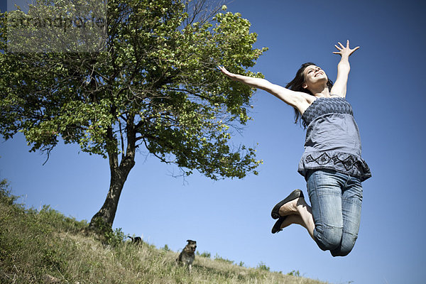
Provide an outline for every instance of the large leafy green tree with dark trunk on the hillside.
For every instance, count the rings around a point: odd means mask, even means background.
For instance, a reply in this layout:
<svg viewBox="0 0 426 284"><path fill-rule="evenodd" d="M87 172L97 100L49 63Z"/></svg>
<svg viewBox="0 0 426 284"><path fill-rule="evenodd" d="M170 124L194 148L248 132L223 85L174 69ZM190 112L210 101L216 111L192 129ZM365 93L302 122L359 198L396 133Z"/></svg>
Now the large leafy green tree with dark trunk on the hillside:
<svg viewBox="0 0 426 284"><path fill-rule="evenodd" d="M92 229L112 226L138 149L175 163L182 175L198 170L217 180L257 174L255 150L231 143L231 134L250 119L253 89L217 70L225 65L262 76L246 70L266 50L253 48L257 35L249 32L249 21L226 6L209 9L206 0L109 0L107 36L89 43L96 52L81 50L89 42L83 35L94 31L90 25L78 30L77 22L67 28L80 40L61 39L67 31L57 26L62 30L49 35L56 41L35 44L43 37L33 35L40 21L27 24L21 42L12 40L12 20L66 16L84 2L38 0L28 13L1 13L0 131L5 139L22 132L30 151L49 155L62 138L109 159L109 192ZM49 45L54 41L58 46ZM34 45L42 50L17 52Z"/></svg>

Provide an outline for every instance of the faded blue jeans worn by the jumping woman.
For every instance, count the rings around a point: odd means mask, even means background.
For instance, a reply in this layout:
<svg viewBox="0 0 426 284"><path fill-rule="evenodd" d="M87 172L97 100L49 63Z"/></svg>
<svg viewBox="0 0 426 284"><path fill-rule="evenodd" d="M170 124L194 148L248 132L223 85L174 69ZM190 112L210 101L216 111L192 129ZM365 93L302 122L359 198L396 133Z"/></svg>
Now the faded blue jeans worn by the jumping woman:
<svg viewBox="0 0 426 284"><path fill-rule="evenodd" d="M361 181L334 170L312 170L306 180L315 241L332 256L348 255L354 248L361 221Z"/></svg>

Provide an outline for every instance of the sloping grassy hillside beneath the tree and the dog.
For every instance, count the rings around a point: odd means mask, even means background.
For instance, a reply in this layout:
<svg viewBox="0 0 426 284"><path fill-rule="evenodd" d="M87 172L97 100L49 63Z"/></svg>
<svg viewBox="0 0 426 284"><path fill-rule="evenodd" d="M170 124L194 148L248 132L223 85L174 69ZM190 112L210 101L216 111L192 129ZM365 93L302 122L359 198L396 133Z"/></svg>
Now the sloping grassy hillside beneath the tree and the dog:
<svg viewBox="0 0 426 284"><path fill-rule="evenodd" d="M196 256L192 273L176 266L178 252L124 241L121 230L87 233L87 223L45 206L25 209L0 183L0 283L287 283L318 280Z"/></svg>

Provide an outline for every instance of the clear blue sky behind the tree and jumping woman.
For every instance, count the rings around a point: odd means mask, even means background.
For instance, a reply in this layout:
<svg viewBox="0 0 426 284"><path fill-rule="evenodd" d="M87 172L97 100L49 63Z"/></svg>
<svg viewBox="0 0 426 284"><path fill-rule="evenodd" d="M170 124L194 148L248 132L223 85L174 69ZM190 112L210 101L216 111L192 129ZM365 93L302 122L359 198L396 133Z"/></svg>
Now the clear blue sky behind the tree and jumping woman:
<svg viewBox="0 0 426 284"><path fill-rule="evenodd" d="M351 58L346 99L361 131L363 158L373 178L363 182L359 239L344 258L321 251L301 226L271 234L276 202L295 188L306 195L297 173L305 131L293 124L293 108L259 90L253 121L235 137L258 143L258 176L214 182L139 153L121 194L113 228L143 236L158 248L180 251L187 239L200 253L271 271L329 283L425 283L425 1L234 0L269 50L251 70L285 85L303 62L320 65L335 80L334 44L361 48ZM6 1L1 0L1 11ZM28 207L50 204L78 220L90 220L109 187L109 164L59 145L46 156L28 153L25 138L0 141L0 178ZM307 196L307 195L306 195Z"/></svg>

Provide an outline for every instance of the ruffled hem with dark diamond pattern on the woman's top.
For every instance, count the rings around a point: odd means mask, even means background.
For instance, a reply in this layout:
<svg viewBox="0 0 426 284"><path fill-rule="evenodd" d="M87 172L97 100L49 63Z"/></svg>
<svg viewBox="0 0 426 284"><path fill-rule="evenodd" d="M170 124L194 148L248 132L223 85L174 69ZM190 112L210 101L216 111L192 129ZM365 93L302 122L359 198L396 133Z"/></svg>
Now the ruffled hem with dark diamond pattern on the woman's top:
<svg viewBox="0 0 426 284"><path fill-rule="evenodd" d="M371 178L370 168L358 155L337 151L303 153L297 170L300 175L305 177L308 170L321 169L336 170L360 178L361 181Z"/></svg>

